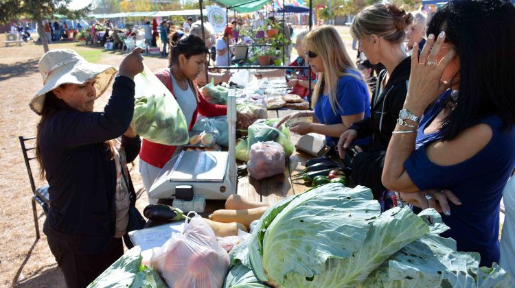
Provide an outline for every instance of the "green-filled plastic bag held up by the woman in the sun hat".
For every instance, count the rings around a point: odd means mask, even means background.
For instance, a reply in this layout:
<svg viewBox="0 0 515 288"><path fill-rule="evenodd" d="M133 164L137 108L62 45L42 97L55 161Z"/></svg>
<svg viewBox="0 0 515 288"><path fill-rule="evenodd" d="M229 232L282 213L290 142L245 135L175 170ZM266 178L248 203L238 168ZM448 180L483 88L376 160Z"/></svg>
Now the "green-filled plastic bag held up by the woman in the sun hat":
<svg viewBox="0 0 515 288"><path fill-rule="evenodd" d="M164 145L188 142L188 127L179 104L159 79L145 66L134 77L135 106L130 127L144 139Z"/></svg>

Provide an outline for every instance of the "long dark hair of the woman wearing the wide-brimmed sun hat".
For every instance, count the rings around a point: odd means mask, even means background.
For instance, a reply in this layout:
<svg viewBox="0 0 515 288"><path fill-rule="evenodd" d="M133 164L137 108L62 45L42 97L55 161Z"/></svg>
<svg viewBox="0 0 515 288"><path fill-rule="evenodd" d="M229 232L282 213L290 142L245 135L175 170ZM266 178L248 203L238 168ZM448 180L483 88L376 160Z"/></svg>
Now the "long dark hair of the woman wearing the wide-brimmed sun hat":
<svg viewBox="0 0 515 288"><path fill-rule="evenodd" d="M65 86L66 84L62 84L60 87ZM41 110L41 120L38 123L36 128L36 160L38 161L39 167L41 168L39 171L39 177L41 179L45 178L45 166L43 166L43 157L41 156L41 128L43 124L48 119L52 118L58 112L62 110L73 109L68 106L65 101L62 101L52 91L47 92L45 95L45 103L43 104L43 109ZM113 158L115 143L112 140L108 140L105 142L106 147L111 152L110 157Z"/></svg>

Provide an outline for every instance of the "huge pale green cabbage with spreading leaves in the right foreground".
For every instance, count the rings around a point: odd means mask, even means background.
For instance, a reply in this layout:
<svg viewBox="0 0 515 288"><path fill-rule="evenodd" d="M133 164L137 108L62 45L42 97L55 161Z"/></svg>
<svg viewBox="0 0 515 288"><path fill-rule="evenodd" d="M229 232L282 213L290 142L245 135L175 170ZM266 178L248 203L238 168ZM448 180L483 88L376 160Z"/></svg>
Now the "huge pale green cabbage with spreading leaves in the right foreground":
<svg viewBox="0 0 515 288"><path fill-rule="evenodd" d="M513 287L501 267L479 268L479 254L439 237L445 230L432 209L381 214L369 189L325 184L264 213L231 251L225 287Z"/></svg>

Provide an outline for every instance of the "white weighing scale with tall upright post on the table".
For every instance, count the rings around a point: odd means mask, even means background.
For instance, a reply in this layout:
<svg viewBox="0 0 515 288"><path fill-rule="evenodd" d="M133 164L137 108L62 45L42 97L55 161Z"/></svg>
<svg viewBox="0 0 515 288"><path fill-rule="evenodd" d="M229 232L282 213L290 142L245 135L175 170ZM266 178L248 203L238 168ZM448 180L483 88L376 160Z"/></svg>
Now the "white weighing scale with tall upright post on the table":
<svg viewBox="0 0 515 288"><path fill-rule="evenodd" d="M236 194L236 91L229 89L227 125L229 151L183 151L161 169L150 187L153 199L172 199L175 187L191 185L195 195L205 199L225 200Z"/></svg>

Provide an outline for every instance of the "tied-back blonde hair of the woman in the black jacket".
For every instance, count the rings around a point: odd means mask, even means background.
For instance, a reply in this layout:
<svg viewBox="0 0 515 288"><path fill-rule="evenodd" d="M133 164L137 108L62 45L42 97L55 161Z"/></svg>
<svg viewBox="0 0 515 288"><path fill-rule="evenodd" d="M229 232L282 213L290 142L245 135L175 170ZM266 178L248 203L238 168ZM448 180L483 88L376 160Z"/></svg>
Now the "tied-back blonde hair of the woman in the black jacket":
<svg viewBox="0 0 515 288"><path fill-rule="evenodd" d="M376 3L352 19L350 34L356 39L376 34L391 43L402 43L406 36L404 30L412 22L411 13L400 10L396 5Z"/></svg>

